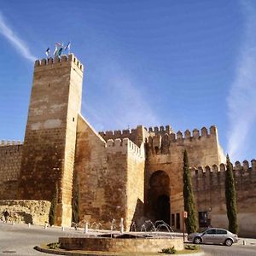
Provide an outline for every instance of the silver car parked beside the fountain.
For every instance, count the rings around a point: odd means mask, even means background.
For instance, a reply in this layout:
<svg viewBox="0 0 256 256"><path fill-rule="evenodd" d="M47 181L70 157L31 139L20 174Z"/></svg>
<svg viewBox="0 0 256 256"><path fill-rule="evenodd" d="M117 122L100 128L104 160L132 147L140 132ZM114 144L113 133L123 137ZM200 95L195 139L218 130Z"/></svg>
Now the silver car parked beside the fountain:
<svg viewBox="0 0 256 256"><path fill-rule="evenodd" d="M196 244L198 243L213 243L224 244L230 247L238 241L238 236L224 229L209 229L203 233L192 233L188 236L188 240Z"/></svg>

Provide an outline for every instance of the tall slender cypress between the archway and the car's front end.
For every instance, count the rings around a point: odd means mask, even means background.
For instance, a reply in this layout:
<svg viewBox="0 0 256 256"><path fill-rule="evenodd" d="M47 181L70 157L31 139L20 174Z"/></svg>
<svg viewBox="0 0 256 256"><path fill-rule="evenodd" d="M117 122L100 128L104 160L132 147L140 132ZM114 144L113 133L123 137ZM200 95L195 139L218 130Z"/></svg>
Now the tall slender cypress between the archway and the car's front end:
<svg viewBox="0 0 256 256"><path fill-rule="evenodd" d="M189 234L194 233L198 225L187 150L185 150L183 154L183 199L184 210L188 212L188 218L185 219L186 229Z"/></svg>

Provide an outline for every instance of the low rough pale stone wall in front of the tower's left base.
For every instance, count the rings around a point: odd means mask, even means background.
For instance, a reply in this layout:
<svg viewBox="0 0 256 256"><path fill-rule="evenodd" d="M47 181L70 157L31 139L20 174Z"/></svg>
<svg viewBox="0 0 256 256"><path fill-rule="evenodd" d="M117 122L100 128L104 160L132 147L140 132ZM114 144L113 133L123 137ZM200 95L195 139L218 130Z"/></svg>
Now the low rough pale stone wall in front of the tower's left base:
<svg viewBox="0 0 256 256"><path fill-rule="evenodd" d="M15 223L45 224L48 223L49 201L1 200L0 212L9 213L8 221Z"/></svg>

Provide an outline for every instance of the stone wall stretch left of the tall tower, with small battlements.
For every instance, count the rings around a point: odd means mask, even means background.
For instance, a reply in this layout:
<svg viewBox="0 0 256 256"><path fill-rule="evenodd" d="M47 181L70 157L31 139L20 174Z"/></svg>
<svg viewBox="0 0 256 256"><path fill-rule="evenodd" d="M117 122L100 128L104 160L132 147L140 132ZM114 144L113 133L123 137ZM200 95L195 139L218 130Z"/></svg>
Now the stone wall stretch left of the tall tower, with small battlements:
<svg viewBox="0 0 256 256"><path fill-rule="evenodd" d="M0 200L15 199L17 196L18 179L22 144L5 142L0 144Z"/></svg>

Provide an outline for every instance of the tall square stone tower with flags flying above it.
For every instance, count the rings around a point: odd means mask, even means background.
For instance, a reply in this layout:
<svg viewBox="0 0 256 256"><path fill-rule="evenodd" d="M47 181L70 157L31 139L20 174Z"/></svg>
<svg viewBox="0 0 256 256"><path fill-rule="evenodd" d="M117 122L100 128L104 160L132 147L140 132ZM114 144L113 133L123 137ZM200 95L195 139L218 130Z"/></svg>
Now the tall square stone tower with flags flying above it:
<svg viewBox="0 0 256 256"><path fill-rule="evenodd" d="M82 81L83 65L74 55L35 61L18 198L51 201L57 183L58 225L71 224Z"/></svg>

